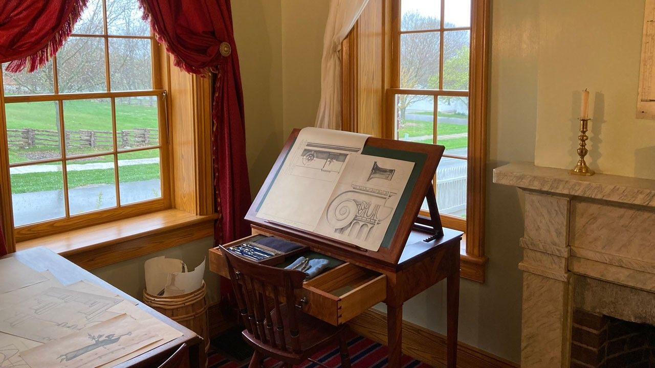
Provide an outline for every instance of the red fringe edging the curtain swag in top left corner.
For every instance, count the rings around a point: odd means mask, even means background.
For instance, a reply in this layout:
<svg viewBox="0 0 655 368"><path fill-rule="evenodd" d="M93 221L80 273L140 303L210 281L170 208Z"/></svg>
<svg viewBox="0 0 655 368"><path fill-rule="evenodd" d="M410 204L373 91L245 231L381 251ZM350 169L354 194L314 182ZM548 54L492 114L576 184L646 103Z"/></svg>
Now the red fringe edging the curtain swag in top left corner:
<svg viewBox="0 0 655 368"><path fill-rule="evenodd" d="M73 33L75 24L82 16L84 9L86 9L87 1L88 0L75 0L73 3L73 9L71 9L71 14L69 14L68 18L62 25L62 28L54 34L54 37L52 37L52 39L35 54L10 62L9 65L7 65L7 71L9 71L9 73L20 73L20 71L27 68L28 73L32 73L40 67L48 64L52 56L57 53L71 33Z"/></svg>

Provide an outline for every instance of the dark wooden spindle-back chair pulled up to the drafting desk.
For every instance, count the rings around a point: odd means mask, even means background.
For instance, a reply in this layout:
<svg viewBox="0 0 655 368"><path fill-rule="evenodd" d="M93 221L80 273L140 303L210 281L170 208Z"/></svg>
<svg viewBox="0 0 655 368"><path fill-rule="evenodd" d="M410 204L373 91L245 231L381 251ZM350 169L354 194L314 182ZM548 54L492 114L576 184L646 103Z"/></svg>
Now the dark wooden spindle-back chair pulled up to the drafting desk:
<svg viewBox="0 0 655 368"><path fill-rule="evenodd" d="M244 340L255 349L248 367L262 367L267 356L282 361L286 368L306 360L326 367L309 357L338 340L341 367L350 368L345 326L309 316L296 304L295 292L303 288L305 272L259 265L220 248L246 325ZM282 298L286 303L280 303Z"/></svg>

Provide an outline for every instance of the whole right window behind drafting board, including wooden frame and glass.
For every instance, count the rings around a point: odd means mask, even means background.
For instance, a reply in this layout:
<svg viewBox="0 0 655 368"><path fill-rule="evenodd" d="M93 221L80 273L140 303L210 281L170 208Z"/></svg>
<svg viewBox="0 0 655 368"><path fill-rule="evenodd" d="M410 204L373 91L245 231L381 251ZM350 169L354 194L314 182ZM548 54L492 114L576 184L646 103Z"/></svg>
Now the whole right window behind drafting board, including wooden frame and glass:
<svg viewBox="0 0 655 368"><path fill-rule="evenodd" d="M462 276L481 282L488 17L489 0L369 0L341 45L343 128L445 146L441 221L465 232Z"/></svg>

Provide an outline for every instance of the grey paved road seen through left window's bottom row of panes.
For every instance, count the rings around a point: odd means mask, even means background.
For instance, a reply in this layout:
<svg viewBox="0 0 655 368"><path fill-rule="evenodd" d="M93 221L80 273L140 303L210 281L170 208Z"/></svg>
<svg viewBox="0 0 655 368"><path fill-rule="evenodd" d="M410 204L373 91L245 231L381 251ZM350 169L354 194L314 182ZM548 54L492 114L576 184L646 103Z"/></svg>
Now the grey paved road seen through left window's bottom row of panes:
<svg viewBox="0 0 655 368"><path fill-rule="evenodd" d="M111 162L110 162L111 163ZM121 204L140 202L161 195L159 179L121 184ZM114 185L89 185L69 190L71 215L116 206ZM14 224L26 225L64 217L64 191L13 194Z"/></svg>

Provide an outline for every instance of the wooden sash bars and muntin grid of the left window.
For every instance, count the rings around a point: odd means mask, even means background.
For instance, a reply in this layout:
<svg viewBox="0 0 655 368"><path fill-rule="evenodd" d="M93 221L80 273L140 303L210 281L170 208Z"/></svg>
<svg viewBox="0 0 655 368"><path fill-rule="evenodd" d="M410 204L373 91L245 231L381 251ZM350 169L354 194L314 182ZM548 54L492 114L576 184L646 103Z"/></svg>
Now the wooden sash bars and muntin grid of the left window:
<svg viewBox="0 0 655 368"><path fill-rule="evenodd" d="M35 160L25 163L16 163L10 164L7 161L7 167L18 167L18 166L29 166L32 164L47 163L47 162L61 162L62 163L62 175L64 176L63 182L63 192L64 192L64 206L65 214L64 217L58 217L56 219L50 219L46 221L39 221L37 223L31 223L27 225L14 226L13 225L13 208L10 212L10 217L12 217L12 229L14 229L14 238L16 242L24 242L27 240L32 240L34 238L41 238L43 236L49 236L57 232L66 232L75 229L81 229L83 227L97 224L97 223L106 223L109 221L116 221L125 217L132 217L136 215L143 215L145 213L157 212L170 208L171 206L171 186L170 186L170 168L168 165L168 121L166 114L166 90L162 89L161 77L162 73L160 68L160 52L161 46L155 40L154 35L149 36L139 36L139 35L130 35L130 36L121 36L121 35L109 35L107 34L107 25L106 25L106 14L103 14L103 22L105 24L104 33L102 35L89 35L83 33L73 33L71 37L88 37L88 38L98 38L103 39L104 41L104 53L105 53L105 82L106 92L77 92L77 93L59 93L59 86L57 83L57 56L52 57L52 67L53 67L53 77L54 77L54 93L53 94L31 94L31 95L18 95L18 96L5 96L5 88L3 82L3 73L0 73L0 109L2 110L2 115L0 116L2 127L2 134L5 139L5 144L3 145L3 151L7 151L9 154L9 142L7 141L7 119L5 116L5 105L9 103L26 103L26 102L55 102L58 103L58 113L60 118L60 131L64 131L64 101L80 101L80 100L92 100L105 98L111 101L112 107L112 131L113 135L113 150L111 152L105 153L92 153L88 155L66 155L65 147L65 137L60 136L60 151L61 155L59 158L48 159L48 160ZM110 64L109 64L109 39L147 39L150 41L151 45L151 71L152 71L152 89L151 90L128 90L128 91L112 91L111 90L111 77L110 77ZM157 119L159 122L159 144L149 147L140 147L138 149L128 149L128 150L119 150L117 147L117 136L116 136L116 114L115 114L115 99L125 98L125 97L142 97L142 96L155 96L157 98ZM144 151L147 149L159 149L160 156L160 183L161 183L161 197L153 198L151 200L145 200L141 202L136 202L133 204L124 204L121 205L120 202L120 185L119 185L119 168L118 168L118 155L121 153L130 153L134 151ZM116 187L116 206L111 208L105 208L102 210L96 210L92 212L80 213L80 214L71 214L69 213L69 200L68 200L68 187L67 187L67 172L65 171L65 165L67 161L74 160L77 158L88 158L93 156L114 156L115 163L115 187ZM5 197L3 197L5 198ZM11 201L9 201L11 203Z"/></svg>

